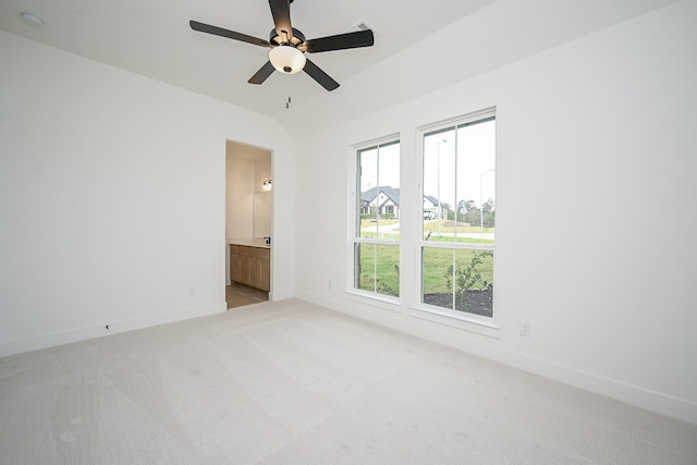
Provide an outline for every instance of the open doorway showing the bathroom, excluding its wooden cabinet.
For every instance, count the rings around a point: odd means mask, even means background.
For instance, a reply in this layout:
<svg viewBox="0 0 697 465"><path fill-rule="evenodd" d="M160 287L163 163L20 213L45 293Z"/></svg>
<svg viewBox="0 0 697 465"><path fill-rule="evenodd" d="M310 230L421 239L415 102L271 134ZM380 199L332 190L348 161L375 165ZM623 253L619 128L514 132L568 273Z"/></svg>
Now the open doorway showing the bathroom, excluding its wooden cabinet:
<svg viewBox="0 0 697 465"><path fill-rule="evenodd" d="M225 145L225 302L228 308L269 299L269 287L245 285L231 277L231 244L270 248L273 192L271 150L234 140ZM271 250L266 253L272 255ZM268 264L268 261L267 261ZM266 267L270 282L271 267ZM267 271L268 270L268 271ZM236 274L236 273L234 273ZM273 283L271 282L271 287Z"/></svg>

